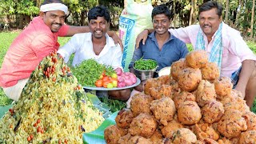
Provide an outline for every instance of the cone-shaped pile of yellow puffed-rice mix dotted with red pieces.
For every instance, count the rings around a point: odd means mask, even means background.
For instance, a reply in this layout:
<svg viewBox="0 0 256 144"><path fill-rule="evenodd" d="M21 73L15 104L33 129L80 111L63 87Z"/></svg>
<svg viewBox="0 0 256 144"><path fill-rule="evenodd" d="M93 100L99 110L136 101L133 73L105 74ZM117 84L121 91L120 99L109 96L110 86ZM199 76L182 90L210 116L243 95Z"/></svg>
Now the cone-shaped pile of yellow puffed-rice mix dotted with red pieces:
<svg viewBox="0 0 256 144"><path fill-rule="evenodd" d="M18 102L0 119L0 143L82 143L104 120L58 54L40 62Z"/></svg>

